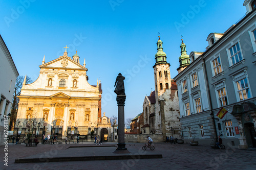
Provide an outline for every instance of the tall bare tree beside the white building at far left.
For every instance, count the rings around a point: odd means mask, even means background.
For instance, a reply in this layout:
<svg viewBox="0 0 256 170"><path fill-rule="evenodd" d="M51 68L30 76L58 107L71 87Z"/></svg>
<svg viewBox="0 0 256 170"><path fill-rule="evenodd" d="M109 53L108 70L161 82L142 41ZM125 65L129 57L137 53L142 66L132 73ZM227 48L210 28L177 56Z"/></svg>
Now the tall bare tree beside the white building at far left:
<svg viewBox="0 0 256 170"><path fill-rule="evenodd" d="M21 90L22 90L22 85L24 82L24 76L18 76L16 78L16 82L15 82L15 87L14 87L14 92L13 92L13 98L12 98L12 107L11 107L11 118L10 118L10 127L9 130L11 130L11 125L13 125L13 123L16 122L16 118L17 118L17 112L18 112L18 95L20 94ZM26 78L26 84L32 83L32 79L30 77L27 76Z"/></svg>

